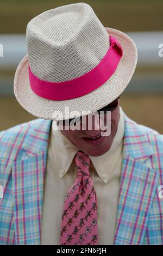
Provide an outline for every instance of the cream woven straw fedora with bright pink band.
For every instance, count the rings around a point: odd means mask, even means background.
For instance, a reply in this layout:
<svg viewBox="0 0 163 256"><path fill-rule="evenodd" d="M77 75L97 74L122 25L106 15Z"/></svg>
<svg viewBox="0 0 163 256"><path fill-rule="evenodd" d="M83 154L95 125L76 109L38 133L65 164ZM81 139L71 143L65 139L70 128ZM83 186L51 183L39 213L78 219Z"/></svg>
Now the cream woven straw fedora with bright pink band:
<svg viewBox="0 0 163 256"><path fill-rule="evenodd" d="M28 54L17 66L14 93L38 118L62 120L101 109L126 89L136 68L133 40L105 28L86 3L37 15L27 25L26 39Z"/></svg>

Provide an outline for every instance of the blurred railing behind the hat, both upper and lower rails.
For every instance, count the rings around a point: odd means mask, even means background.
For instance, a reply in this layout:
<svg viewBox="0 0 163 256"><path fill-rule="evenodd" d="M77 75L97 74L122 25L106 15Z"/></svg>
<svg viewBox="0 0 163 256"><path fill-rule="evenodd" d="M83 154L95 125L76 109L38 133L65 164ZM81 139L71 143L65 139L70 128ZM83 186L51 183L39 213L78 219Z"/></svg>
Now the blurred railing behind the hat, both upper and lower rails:
<svg viewBox="0 0 163 256"><path fill-rule="evenodd" d="M163 44L163 31L158 32L128 32L134 41L138 51L137 66L163 67L163 56L159 57L159 45ZM0 69L14 69L20 60L26 55L26 35L2 35L0 34ZM163 51L162 51L163 52ZM3 55L3 57L1 57ZM146 72L146 74L134 75L126 92L163 92L163 68L162 72ZM0 77L0 96L14 95L13 77Z"/></svg>

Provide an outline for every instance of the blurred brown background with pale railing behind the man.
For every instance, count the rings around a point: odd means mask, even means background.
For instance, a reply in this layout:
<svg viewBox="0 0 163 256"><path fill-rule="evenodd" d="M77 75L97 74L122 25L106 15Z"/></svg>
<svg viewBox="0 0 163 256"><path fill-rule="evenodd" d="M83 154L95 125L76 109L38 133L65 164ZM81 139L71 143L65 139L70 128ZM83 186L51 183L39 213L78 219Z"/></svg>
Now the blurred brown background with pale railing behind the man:
<svg viewBox="0 0 163 256"><path fill-rule="evenodd" d="M27 23L45 10L77 2L90 4L105 27L119 29L135 41L137 68L121 96L121 106L129 118L163 133L163 56L159 56L159 45L163 44L162 0L2 0L0 131L36 118L18 104L13 92L16 67L27 53Z"/></svg>

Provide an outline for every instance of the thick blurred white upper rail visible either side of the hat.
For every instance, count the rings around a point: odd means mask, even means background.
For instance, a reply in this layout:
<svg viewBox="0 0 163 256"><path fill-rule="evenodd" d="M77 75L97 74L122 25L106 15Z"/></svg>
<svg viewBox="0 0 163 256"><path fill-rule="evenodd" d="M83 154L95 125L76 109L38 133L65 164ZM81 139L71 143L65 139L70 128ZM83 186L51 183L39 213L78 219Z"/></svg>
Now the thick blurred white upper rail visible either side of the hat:
<svg viewBox="0 0 163 256"><path fill-rule="evenodd" d="M163 65L163 57L159 57L159 45L163 44L163 31L128 32L138 51L138 65ZM15 68L27 53L26 35L0 34L3 45L3 57L0 57L0 68Z"/></svg>

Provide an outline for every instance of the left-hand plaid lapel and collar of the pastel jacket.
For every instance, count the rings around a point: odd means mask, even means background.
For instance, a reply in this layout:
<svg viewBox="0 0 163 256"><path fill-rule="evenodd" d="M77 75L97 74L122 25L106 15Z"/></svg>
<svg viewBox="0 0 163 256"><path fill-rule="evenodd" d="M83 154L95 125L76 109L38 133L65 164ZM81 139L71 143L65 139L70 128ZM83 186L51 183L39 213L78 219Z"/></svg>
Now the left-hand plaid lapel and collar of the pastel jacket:
<svg viewBox="0 0 163 256"><path fill-rule="evenodd" d="M12 165L15 240L40 245L43 186L51 121L38 119L22 145L23 160Z"/></svg>

